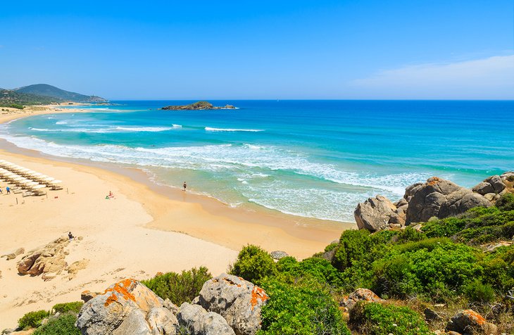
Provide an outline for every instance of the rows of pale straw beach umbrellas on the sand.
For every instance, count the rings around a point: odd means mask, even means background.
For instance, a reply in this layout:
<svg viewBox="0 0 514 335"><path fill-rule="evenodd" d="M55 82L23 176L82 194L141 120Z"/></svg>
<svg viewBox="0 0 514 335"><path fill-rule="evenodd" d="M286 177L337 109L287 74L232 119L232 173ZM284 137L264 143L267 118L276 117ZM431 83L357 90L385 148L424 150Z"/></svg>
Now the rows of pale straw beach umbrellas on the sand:
<svg viewBox="0 0 514 335"><path fill-rule="evenodd" d="M0 159L0 179L16 185L11 187L13 193L23 193L23 196L42 196L46 194L43 189L63 189L59 184L61 180L43 175L42 173L27 169L23 166Z"/></svg>

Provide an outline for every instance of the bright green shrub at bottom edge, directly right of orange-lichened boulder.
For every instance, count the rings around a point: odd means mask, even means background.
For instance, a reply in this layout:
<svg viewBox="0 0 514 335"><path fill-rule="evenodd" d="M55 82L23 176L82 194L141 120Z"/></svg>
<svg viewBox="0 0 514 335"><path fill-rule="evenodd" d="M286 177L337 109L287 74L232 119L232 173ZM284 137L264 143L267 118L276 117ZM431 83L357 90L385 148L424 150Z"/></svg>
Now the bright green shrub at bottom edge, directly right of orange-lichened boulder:
<svg viewBox="0 0 514 335"><path fill-rule="evenodd" d="M350 334L337 303L320 284L287 284L268 277L259 285L270 300L261 311L262 329L258 334Z"/></svg>

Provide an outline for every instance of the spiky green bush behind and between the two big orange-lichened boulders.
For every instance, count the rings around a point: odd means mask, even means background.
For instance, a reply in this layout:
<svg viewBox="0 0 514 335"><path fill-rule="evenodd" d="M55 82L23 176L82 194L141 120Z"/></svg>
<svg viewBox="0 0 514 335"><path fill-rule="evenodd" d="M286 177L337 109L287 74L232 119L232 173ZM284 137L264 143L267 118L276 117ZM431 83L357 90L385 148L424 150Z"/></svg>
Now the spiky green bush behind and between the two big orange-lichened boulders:
<svg viewBox="0 0 514 335"><path fill-rule="evenodd" d="M203 283L212 277L206 267L199 269L194 267L189 271L182 271L181 274L175 272L161 274L152 279L143 280L142 283L161 298L168 298L172 303L180 306L182 303L190 303L198 296Z"/></svg>

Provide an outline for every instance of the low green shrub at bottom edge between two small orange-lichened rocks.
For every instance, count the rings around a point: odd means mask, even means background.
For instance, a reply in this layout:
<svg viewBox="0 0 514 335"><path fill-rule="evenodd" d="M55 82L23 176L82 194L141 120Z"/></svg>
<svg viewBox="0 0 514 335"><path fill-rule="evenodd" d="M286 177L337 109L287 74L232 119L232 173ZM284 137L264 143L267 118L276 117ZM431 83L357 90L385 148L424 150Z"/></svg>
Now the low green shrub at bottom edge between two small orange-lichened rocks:
<svg viewBox="0 0 514 335"><path fill-rule="evenodd" d="M360 302L350 311L353 330L369 335L428 335L425 320L415 311L395 305Z"/></svg>

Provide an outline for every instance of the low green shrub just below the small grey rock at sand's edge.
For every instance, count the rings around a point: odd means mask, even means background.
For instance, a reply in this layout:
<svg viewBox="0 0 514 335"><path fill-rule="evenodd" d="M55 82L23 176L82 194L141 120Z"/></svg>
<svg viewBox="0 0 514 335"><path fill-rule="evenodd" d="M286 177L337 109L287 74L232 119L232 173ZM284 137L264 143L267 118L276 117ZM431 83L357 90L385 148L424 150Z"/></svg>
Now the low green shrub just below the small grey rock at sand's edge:
<svg viewBox="0 0 514 335"><path fill-rule="evenodd" d="M342 286L341 273L323 258L306 258L299 262L296 258L284 257L277 262L277 271L294 279L311 277L333 287Z"/></svg>

